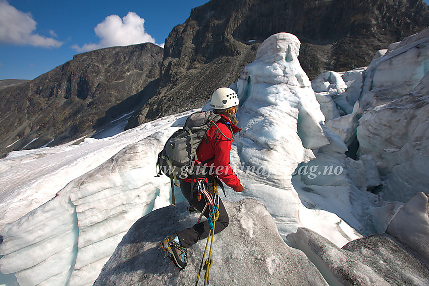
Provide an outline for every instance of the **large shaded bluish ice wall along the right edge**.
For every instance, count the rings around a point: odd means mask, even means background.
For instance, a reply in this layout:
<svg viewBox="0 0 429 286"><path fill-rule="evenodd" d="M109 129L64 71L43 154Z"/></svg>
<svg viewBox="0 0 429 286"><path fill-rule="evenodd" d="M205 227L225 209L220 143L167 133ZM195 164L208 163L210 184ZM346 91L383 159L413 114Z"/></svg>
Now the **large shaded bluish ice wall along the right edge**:
<svg viewBox="0 0 429 286"><path fill-rule="evenodd" d="M376 158L384 200L406 202L416 191L429 193L429 28L371 65L362 102L372 107L359 120L358 155Z"/></svg>

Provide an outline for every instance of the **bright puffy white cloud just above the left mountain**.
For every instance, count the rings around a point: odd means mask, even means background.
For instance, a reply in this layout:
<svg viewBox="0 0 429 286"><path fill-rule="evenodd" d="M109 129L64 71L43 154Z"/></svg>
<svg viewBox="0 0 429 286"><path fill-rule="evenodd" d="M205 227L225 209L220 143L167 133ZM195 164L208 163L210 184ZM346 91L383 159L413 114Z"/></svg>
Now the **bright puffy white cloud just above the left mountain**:
<svg viewBox="0 0 429 286"><path fill-rule="evenodd" d="M121 19L118 15L110 15L94 28L100 38L98 44L87 43L72 48L79 52L111 46L127 46L139 43L154 43L155 39L144 30L144 19L134 12L128 12Z"/></svg>

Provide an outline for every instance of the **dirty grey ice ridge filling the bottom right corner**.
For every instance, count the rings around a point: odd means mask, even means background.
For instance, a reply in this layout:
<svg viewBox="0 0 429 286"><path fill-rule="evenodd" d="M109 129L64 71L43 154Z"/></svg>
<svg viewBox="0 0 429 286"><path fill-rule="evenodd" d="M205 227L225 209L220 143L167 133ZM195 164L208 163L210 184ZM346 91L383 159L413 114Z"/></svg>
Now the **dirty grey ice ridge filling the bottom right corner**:
<svg viewBox="0 0 429 286"><path fill-rule="evenodd" d="M330 285L427 285L429 283L428 195L416 193L400 207L385 233L338 248L306 228L287 236Z"/></svg>

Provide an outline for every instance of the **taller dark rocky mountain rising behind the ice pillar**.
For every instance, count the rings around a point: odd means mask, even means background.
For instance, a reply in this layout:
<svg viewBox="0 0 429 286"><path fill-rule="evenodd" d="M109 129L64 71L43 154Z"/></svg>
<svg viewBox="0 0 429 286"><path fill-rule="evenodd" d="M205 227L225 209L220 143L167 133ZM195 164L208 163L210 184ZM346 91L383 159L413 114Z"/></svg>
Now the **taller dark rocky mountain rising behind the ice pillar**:
<svg viewBox="0 0 429 286"><path fill-rule="evenodd" d="M272 34L299 38L299 61L313 79L367 66L377 50L427 23L422 0L212 0L166 39L160 86L127 128L201 107L216 88L236 81Z"/></svg>

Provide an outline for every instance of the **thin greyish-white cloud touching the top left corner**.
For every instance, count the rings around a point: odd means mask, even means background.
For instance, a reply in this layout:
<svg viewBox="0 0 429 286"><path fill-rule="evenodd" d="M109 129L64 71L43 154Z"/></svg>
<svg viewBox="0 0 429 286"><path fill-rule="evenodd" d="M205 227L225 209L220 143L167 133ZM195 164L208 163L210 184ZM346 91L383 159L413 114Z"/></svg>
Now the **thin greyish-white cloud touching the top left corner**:
<svg viewBox="0 0 429 286"><path fill-rule="evenodd" d="M0 44L33 45L39 47L59 47L63 43L53 38L34 34L36 21L29 13L24 13L0 0Z"/></svg>

